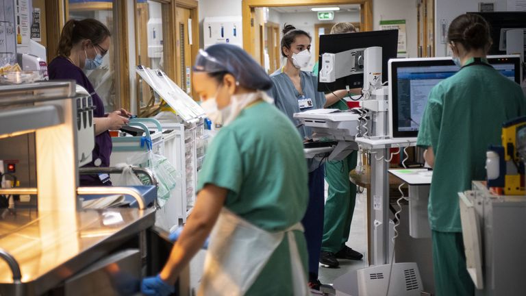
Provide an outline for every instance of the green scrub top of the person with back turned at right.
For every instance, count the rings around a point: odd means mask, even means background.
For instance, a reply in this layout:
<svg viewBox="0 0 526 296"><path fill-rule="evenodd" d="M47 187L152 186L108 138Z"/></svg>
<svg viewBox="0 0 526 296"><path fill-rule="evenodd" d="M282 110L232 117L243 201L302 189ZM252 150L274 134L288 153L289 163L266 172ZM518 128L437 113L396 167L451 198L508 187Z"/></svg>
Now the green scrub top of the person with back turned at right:
<svg viewBox="0 0 526 296"><path fill-rule="evenodd" d="M431 89L418 132L416 145L435 153L428 212L439 232L462 232L458 193L486 179L486 151L501 145L502 124L526 115L521 87L473 62Z"/></svg>

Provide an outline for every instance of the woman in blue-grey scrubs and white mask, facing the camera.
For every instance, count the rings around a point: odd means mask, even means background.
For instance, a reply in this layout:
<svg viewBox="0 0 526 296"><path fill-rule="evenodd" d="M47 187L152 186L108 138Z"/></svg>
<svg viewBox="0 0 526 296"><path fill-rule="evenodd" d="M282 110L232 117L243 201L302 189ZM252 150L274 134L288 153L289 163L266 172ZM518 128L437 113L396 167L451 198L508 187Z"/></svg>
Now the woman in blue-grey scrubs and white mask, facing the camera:
<svg viewBox="0 0 526 296"><path fill-rule="evenodd" d="M281 38L281 55L286 58L286 63L271 75L273 87L268 90L276 107L295 125L299 125L299 121L293 118L295 113L325 106L325 94L317 90L317 77L310 71L301 71L310 62L310 42L312 38L307 32L292 25L285 26ZM312 138L310 127L299 126L297 130L304 140ZM316 160L306 162L309 167L309 206L302 223L309 251L309 284L311 288L318 290L318 260L323 235L324 169L323 164Z"/></svg>

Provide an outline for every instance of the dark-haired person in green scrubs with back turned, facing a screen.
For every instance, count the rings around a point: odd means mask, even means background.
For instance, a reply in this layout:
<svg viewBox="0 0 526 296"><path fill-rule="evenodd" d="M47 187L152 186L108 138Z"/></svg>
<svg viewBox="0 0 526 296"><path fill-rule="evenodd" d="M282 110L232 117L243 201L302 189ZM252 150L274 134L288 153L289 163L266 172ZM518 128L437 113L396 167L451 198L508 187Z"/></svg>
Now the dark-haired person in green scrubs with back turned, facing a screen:
<svg viewBox="0 0 526 296"><path fill-rule="evenodd" d="M417 145L433 167L429 224L433 240L436 295L473 295L466 270L458 193L484 180L486 150L500 145L502 123L526 114L521 87L486 60L489 26L476 14L455 18L448 30L458 73L429 94Z"/></svg>

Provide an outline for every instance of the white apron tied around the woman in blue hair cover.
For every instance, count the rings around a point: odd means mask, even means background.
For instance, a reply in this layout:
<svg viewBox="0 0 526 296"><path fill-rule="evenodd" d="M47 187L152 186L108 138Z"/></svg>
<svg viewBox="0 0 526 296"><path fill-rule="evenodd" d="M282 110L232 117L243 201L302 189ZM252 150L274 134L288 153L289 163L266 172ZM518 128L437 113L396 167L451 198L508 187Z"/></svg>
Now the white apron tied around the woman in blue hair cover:
<svg viewBox="0 0 526 296"><path fill-rule="evenodd" d="M308 295L305 271L293 231L267 232L223 208L210 235L198 296L245 295L281 241L287 236L295 296Z"/></svg>

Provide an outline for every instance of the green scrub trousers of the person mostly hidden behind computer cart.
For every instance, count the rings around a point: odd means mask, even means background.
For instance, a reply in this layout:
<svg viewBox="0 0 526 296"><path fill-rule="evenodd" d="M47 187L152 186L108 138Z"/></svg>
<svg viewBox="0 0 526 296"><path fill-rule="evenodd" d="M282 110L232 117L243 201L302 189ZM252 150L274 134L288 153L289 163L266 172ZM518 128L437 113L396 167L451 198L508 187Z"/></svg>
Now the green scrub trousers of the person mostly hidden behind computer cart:
<svg viewBox="0 0 526 296"><path fill-rule="evenodd" d="M325 162L325 181L329 184L325 201L322 251L337 253L349 240L356 204L356 185L349 181L349 172L356 168L358 151L343 160Z"/></svg>

